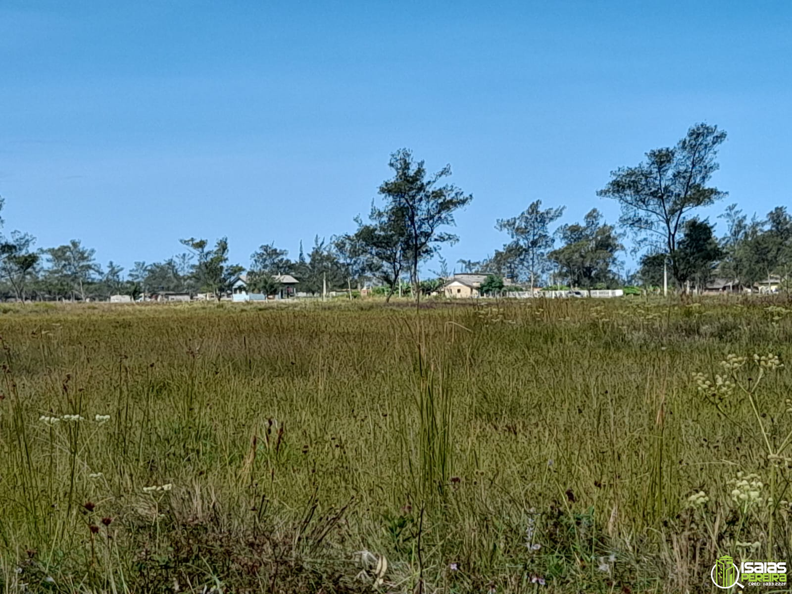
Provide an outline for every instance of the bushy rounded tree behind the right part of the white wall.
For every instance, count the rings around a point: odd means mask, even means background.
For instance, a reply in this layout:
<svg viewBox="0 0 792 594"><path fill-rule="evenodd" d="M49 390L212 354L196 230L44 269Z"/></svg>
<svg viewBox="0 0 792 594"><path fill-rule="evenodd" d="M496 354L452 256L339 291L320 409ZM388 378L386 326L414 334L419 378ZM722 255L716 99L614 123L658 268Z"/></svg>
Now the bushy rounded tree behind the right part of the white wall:
<svg viewBox="0 0 792 594"><path fill-rule="evenodd" d="M585 215L581 225L564 225L558 230L564 246L548 254L561 269L562 275L575 287L591 289L596 285L613 285L616 275L616 253L624 249L619 235L611 225L603 222L600 211L594 208Z"/></svg>

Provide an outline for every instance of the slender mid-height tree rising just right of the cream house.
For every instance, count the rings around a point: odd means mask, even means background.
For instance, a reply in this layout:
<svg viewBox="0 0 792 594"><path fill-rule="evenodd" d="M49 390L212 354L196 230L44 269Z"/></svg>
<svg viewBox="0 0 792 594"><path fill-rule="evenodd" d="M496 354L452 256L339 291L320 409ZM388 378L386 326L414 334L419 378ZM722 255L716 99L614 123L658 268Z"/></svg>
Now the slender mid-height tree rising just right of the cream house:
<svg viewBox="0 0 792 594"><path fill-rule="evenodd" d="M520 254L520 262L531 279L531 291L534 290L535 280L547 272L547 253L554 243L550 223L563 214L564 207L542 210L542 200L535 200L520 215L497 220L495 228L506 231L512 238L512 244L505 246L503 253Z"/></svg>

